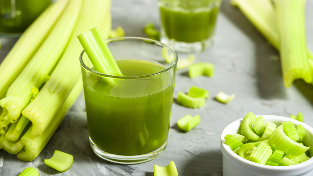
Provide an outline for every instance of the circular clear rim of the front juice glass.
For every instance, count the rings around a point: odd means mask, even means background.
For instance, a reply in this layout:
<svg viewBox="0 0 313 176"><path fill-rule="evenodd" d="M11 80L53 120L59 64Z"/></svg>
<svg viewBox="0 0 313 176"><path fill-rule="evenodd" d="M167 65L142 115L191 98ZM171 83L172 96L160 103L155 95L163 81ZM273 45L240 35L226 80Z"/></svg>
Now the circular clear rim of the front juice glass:
<svg viewBox="0 0 313 176"><path fill-rule="evenodd" d="M161 74L161 73L165 73L165 72L171 70L172 68L174 68L177 65L178 56L177 56L176 51L171 46L169 46L169 45L167 45L165 43L162 43L160 41L149 39L149 38L143 38L143 37L117 37L117 38L108 38L108 39L105 39L105 41L118 41L118 40L121 40L121 39L136 39L136 40L141 40L141 41L147 40L147 41L153 42L156 45L166 47L167 49L169 49L170 51L172 51L174 53L174 61L172 62L172 64L170 66L168 66L167 68L163 69L160 72L156 72L156 73L152 73L152 74L148 74L148 75L141 75L141 76L114 76L114 75L108 75L108 74L100 73L100 72L95 71L94 69L89 68L82 60L82 56L85 53L85 50L83 50L80 53L80 57L79 57L80 65L83 66L89 72L94 73L94 74L96 74L98 76L109 77L109 78L120 78L120 79L127 79L127 78L128 79L129 78L134 79L134 78L151 77L151 76L155 76L155 75L158 75L158 74Z"/></svg>

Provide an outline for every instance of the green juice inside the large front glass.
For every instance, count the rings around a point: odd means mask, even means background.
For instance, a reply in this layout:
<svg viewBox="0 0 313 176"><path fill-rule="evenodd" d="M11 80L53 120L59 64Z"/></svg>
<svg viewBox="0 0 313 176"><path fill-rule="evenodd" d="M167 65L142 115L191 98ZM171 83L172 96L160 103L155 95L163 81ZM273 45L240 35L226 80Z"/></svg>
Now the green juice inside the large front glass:
<svg viewBox="0 0 313 176"><path fill-rule="evenodd" d="M120 59L116 61L126 77L160 72L162 65ZM147 77L146 81L106 81L90 74L84 83L89 136L98 148L117 155L139 155L161 147L169 130L174 83L162 85L170 75ZM145 89L142 89L145 87ZM146 88L148 87L148 88Z"/></svg>

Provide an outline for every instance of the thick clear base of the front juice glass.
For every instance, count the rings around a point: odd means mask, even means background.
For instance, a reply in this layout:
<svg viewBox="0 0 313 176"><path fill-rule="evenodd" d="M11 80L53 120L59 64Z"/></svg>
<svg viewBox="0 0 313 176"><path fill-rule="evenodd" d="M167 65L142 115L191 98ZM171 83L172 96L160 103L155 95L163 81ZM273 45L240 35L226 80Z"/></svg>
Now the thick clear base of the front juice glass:
<svg viewBox="0 0 313 176"><path fill-rule="evenodd" d="M91 149L96 155L112 163L119 163L119 164L138 164L138 163L144 163L144 162L150 161L160 156L164 152L167 146L167 141L166 141L161 147L149 153L145 153L141 155L117 155L117 154L103 151L102 149L97 147L95 143L92 142L90 137L89 137L89 141L90 141Z"/></svg>

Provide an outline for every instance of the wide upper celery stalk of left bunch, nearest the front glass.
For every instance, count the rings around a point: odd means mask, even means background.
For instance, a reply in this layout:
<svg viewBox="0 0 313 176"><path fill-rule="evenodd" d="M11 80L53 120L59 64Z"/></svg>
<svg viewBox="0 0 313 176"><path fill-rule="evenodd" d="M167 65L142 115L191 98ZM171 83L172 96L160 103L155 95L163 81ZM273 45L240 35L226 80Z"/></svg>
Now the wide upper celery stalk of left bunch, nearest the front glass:
<svg viewBox="0 0 313 176"><path fill-rule="evenodd" d="M108 37L111 28L110 3L110 0L88 0L83 2L79 22L58 65L37 97L22 111L23 115L33 123L30 136L36 137L47 128L75 83L81 80L78 60L83 48L77 39L77 35L81 31L99 25L101 30L105 30L103 36ZM90 13L90 11L93 11L93 13ZM105 23L105 25L102 23Z"/></svg>

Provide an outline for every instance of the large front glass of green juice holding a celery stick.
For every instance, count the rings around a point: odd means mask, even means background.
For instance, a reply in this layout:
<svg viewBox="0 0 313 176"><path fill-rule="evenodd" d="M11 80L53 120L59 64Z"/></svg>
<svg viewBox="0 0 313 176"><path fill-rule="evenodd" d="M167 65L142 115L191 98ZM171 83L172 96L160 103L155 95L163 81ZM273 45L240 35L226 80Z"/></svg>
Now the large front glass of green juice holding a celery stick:
<svg viewBox="0 0 313 176"><path fill-rule="evenodd" d="M146 38L106 42L124 76L96 72L87 54L80 55L91 148L113 163L149 161L167 145L177 53ZM162 58L164 47L172 63Z"/></svg>

